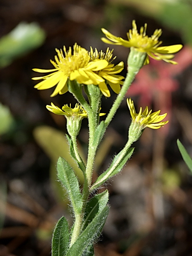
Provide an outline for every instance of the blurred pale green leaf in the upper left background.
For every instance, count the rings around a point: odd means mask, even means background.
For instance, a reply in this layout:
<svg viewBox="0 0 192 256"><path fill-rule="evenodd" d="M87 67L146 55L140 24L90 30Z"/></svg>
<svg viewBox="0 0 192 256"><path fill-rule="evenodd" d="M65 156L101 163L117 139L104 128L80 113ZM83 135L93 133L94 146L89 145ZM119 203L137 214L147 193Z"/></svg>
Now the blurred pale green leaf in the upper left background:
<svg viewBox="0 0 192 256"><path fill-rule="evenodd" d="M8 35L0 38L0 67L6 67L45 40L45 32L35 23L20 22Z"/></svg>

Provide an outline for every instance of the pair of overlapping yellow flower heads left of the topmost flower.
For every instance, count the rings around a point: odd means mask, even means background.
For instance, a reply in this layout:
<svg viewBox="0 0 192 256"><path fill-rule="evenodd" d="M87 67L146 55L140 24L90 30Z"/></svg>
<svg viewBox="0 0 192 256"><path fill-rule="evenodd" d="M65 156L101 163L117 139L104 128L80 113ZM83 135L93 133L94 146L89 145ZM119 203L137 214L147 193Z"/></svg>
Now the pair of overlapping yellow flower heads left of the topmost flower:
<svg viewBox="0 0 192 256"><path fill-rule="evenodd" d="M49 89L56 85L51 97L56 96L58 93L64 94L68 91L67 81L69 79L71 81L76 80L79 84L99 85L103 95L109 97L110 92L105 84L107 80L113 91L119 93L119 84L122 84L121 80L124 77L114 74L121 72L124 64L120 62L115 67L114 64L111 64L112 51L108 51L105 57L103 53L94 55L93 51L88 54L86 49L75 44L73 54L71 47L67 51L65 46L64 52L61 49L56 49L56 52L55 61L50 60L55 69L33 69L39 73L50 73L47 76L32 78L33 80L43 79L43 81L35 85L38 90Z"/></svg>

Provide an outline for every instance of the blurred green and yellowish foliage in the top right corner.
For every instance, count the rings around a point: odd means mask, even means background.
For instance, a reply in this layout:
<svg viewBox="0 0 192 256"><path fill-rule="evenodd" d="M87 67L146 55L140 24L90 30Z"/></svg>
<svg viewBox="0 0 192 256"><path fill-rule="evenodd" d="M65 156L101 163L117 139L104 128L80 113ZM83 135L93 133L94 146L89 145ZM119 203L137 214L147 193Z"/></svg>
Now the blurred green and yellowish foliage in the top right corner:
<svg viewBox="0 0 192 256"><path fill-rule="evenodd" d="M133 7L180 32L185 44L192 45L192 0L111 0L115 5Z"/></svg>

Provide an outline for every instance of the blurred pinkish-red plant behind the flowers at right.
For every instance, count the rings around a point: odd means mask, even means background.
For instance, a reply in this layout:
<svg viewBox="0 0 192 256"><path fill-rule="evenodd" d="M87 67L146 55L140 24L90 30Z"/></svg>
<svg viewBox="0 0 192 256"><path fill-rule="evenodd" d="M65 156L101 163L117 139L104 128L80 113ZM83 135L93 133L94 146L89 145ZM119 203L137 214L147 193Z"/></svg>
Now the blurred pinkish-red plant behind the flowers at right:
<svg viewBox="0 0 192 256"><path fill-rule="evenodd" d="M167 119L172 119L172 92L178 89L176 76L192 64L192 48L183 47L174 58L177 65L150 59L150 63L140 70L135 81L127 92L127 96L139 95L138 105L145 108L154 106L154 111L167 113ZM167 133L170 123L161 130Z"/></svg>

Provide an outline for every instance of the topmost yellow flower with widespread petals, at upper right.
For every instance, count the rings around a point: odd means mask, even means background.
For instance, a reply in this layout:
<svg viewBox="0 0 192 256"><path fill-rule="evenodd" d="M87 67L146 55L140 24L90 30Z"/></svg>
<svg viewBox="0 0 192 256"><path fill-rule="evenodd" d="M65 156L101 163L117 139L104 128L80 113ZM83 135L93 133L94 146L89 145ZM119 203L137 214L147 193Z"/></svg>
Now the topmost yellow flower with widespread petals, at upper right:
<svg viewBox="0 0 192 256"><path fill-rule="evenodd" d="M140 52L146 52L147 57L145 59L144 64L149 63L149 58L154 58L155 60L163 60L172 64L177 64L176 61L172 61L174 58L174 53L178 52L183 46L181 44L171 45L171 46L163 46L159 47L162 44L162 41L159 41L159 37L162 34L161 29L156 29L151 35L148 37L146 35L147 24L145 23L144 27L140 28L140 33L137 31L137 25L135 20L132 22L133 29L130 29L127 33L128 40L122 39L120 37L116 37L108 32L106 29L102 29L102 32L106 35L106 38L102 38L102 41L107 44L116 44L122 45L125 47L134 47Z"/></svg>

